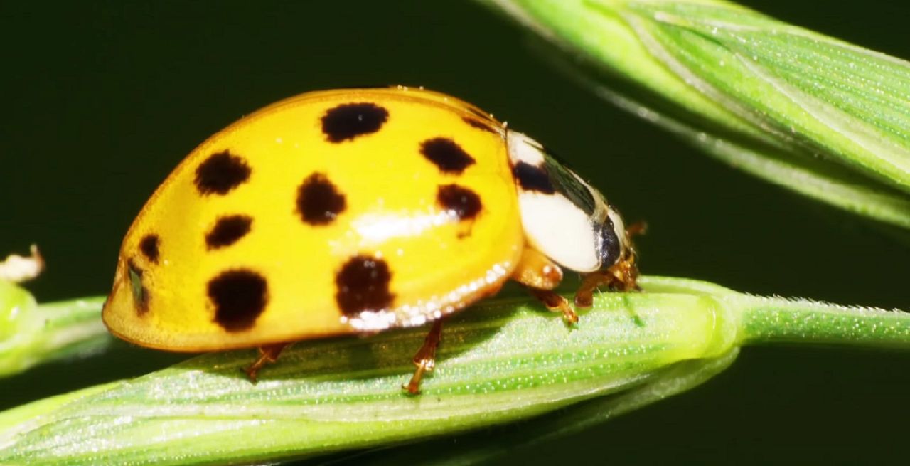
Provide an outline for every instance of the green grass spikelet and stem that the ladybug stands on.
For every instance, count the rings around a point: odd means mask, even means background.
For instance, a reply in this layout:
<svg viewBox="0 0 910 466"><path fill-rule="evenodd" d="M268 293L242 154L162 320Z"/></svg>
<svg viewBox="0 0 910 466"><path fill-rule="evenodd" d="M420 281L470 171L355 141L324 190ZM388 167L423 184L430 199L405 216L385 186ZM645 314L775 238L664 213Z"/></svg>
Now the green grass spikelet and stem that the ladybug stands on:
<svg viewBox="0 0 910 466"><path fill-rule="evenodd" d="M437 369L417 397L400 386L426 329L300 342L262 370L257 385L241 372L255 351L230 351L35 401L0 413L0 463L278 461L601 400L550 429L532 422L511 440L532 441L688 390L729 365L743 343L910 349L910 314L902 312L757 298L687 279L641 283L646 292L598 295L577 328L528 299L488 300L447 319ZM462 460L500 451L481 444Z"/></svg>

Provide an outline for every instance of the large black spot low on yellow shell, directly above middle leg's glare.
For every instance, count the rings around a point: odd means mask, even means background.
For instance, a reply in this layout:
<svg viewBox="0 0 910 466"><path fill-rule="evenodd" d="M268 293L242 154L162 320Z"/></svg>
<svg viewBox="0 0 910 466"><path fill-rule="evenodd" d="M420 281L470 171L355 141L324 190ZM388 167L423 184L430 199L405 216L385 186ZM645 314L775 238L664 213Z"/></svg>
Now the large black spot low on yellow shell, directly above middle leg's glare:
<svg viewBox="0 0 910 466"><path fill-rule="evenodd" d="M389 291L392 274L381 258L349 258L335 276L335 300L341 313L358 317L360 312L389 309L395 299Z"/></svg>

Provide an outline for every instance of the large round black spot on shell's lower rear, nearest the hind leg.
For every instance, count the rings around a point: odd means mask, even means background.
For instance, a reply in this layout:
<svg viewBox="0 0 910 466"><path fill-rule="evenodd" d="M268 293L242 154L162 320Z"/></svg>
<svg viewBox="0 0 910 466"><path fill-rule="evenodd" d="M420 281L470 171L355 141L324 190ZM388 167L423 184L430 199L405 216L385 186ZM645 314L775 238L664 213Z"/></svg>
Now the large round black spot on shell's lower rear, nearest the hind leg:
<svg viewBox="0 0 910 466"><path fill-rule="evenodd" d="M215 306L215 323L227 331L253 327L268 303L268 283L253 270L237 268L208 281L208 299Z"/></svg>

